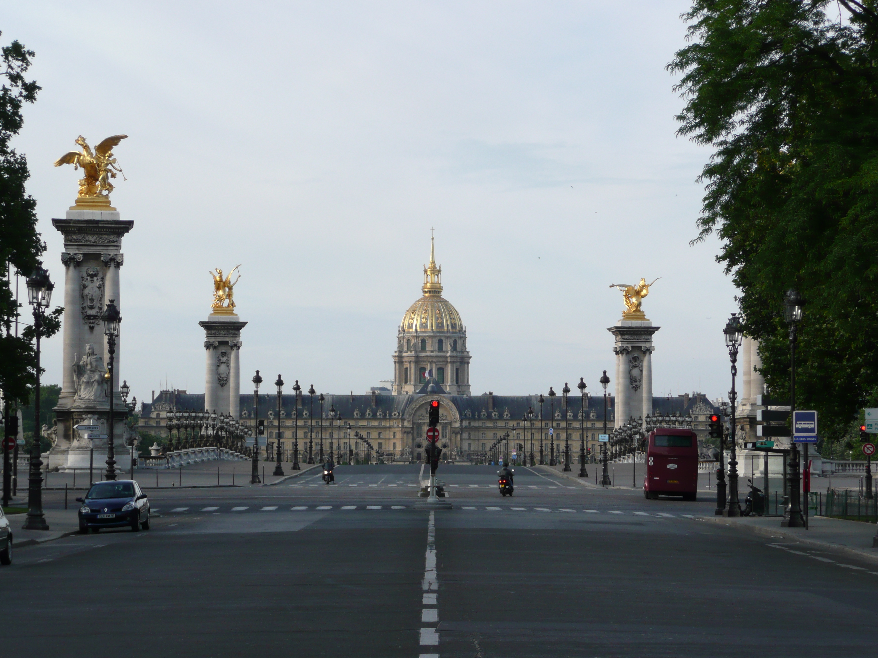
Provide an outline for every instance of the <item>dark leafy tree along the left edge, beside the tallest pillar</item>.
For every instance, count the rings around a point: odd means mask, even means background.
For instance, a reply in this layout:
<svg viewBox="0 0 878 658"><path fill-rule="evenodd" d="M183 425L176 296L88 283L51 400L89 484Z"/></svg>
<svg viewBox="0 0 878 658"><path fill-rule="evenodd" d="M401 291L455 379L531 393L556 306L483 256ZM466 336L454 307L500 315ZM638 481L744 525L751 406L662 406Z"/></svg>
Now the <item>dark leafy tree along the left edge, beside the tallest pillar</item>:
<svg viewBox="0 0 878 658"><path fill-rule="evenodd" d="M0 32L2 33L2 32ZM6 399L25 402L36 378L33 328L26 325L20 335L11 331L18 317L18 304L11 287L16 271L27 276L46 250L37 232L36 200L25 191L30 173L27 160L10 146L11 139L24 125L22 105L36 100L40 86L25 80L33 51L18 41L0 48L0 263L7 276L0 279L0 390ZM61 326L61 309L47 315L43 336L57 332Z"/></svg>

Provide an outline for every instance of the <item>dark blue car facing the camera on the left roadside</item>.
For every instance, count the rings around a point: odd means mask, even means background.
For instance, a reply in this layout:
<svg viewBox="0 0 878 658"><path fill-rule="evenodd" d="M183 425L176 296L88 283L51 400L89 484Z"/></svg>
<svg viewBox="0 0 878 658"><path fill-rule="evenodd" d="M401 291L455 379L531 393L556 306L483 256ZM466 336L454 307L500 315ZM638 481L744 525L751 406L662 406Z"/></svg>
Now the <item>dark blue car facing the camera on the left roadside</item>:
<svg viewBox="0 0 878 658"><path fill-rule="evenodd" d="M79 508L79 532L97 533L101 528L129 526L134 532L149 530L149 501L147 495L133 480L97 482L84 498Z"/></svg>

